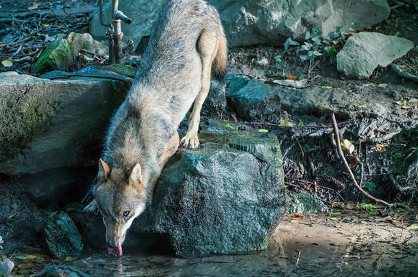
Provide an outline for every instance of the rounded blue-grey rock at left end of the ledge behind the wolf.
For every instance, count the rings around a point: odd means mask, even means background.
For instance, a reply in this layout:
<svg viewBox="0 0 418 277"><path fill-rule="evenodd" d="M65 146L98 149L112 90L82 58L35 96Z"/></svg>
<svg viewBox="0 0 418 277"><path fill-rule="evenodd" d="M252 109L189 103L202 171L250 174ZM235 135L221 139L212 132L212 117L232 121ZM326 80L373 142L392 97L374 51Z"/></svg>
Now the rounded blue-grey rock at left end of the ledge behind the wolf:
<svg viewBox="0 0 418 277"><path fill-rule="evenodd" d="M258 79L235 77L226 91L228 105L244 120L278 122L280 98L271 85Z"/></svg>

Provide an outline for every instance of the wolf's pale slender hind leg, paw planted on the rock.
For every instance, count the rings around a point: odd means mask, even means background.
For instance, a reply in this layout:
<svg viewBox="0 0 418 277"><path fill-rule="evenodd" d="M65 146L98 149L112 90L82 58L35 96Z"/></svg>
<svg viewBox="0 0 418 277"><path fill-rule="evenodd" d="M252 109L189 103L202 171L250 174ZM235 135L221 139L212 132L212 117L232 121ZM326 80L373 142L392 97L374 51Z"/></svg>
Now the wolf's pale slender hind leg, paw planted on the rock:
<svg viewBox="0 0 418 277"><path fill-rule="evenodd" d="M203 68L201 76L201 89L199 94L197 94L195 105L193 106L193 111L190 114L190 118L188 120L187 133L180 142L183 147L189 149L196 149L199 147L197 131L199 131L201 106L204 104L206 96L208 96L209 93L212 62L219 48L219 32L217 29L215 30L216 31L204 30L199 38L199 41L197 42L197 49L201 55Z"/></svg>

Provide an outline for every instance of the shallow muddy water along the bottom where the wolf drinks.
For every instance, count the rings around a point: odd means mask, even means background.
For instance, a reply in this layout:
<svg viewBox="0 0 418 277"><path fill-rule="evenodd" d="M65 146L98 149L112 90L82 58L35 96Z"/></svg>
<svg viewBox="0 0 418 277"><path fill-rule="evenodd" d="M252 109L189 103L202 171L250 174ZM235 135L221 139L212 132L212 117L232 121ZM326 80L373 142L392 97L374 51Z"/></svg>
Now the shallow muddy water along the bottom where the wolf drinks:
<svg viewBox="0 0 418 277"><path fill-rule="evenodd" d="M413 231L389 222L326 217L283 222L266 251L249 255L182 259L95 253L73 263L91 276L418 276Z"/></svg>

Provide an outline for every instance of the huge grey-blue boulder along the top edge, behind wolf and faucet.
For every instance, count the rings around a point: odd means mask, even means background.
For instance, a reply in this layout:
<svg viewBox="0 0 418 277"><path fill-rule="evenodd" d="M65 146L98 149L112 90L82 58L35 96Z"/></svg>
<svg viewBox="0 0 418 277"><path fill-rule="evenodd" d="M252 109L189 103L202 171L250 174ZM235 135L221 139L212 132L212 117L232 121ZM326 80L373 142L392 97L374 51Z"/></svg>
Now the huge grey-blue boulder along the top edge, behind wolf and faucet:
<svg viewBox="0 0 418 277"><path fill-rule="evenodd" d="M135 48L149 36L158 12L168 0L121 0L119 10L132 18L123 25L124 38ZM386 0L208 0L218 10L230 47L255 44L281 45L288 38L303 38L312 27L323 34L337 26L363 29L386 19L391 10ZM106 23L110 21L111 1L103 7ZM187 20L187 19L186 19ZM354 24L353 24L354 23ZM100 25L99 11L93 14L90 31L104 38L108 27Z"/></svg>

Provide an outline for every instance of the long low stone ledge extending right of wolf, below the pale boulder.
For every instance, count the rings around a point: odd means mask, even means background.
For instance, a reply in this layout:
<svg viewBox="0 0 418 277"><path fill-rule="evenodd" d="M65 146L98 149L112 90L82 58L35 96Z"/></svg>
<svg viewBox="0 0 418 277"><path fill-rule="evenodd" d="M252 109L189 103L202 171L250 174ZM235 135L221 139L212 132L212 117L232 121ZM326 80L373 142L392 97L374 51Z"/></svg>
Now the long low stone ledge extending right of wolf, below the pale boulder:
<svg viewBox="0 0 418 277"><path fill-rule="evenodd" d="M294 115L332 114L385 116L391 101L381 94L348 92L341 88L294 89L272 86L258 79L230 77L228 106L239 119L278 124L282 112Z"/></svg>

